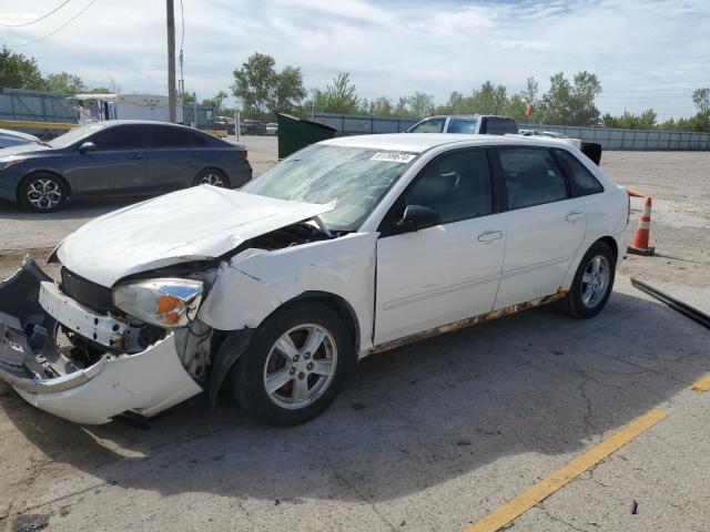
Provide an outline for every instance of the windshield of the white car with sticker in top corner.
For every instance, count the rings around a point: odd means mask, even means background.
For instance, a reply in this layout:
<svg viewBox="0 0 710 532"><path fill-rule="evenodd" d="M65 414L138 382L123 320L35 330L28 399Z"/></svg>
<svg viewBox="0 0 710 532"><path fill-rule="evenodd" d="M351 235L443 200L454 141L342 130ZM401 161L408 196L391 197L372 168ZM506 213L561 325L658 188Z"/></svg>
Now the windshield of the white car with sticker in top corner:
<svg viewBox="0 0 710 532"><path fill-rule="evenodd" d="M241 191L278 200L329 203L331 231L356 231L417 154L386 149L313 145L271 167Z"/></svg>

